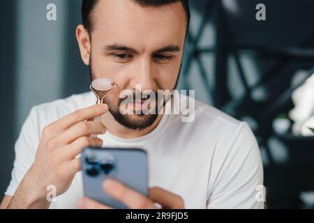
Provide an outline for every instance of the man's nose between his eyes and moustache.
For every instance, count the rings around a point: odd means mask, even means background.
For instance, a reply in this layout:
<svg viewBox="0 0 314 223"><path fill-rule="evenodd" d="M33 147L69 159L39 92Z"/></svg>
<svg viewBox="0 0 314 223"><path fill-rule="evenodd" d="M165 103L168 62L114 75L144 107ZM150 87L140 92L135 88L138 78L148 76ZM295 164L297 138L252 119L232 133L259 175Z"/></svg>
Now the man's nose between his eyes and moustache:
<svg viewBox="0 0 314 223"><path fill-rule="evenodd" d="M138 61L130 84L133 89L135 85L140 84L142 91L154 90L156 88L154 64L148 59Z"/></svg>

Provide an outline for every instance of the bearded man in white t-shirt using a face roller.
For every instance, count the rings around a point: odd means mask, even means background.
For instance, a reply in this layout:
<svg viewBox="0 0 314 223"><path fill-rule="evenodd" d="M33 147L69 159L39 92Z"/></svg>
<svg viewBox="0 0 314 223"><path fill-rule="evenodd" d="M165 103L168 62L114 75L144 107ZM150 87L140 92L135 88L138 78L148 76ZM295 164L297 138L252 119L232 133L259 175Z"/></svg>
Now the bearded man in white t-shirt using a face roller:
<svg viewBox="0 0 314 223"><path fill-rule="evenodd" d="M149 155L149 197L106 180L103 189L130 208L263 208L255 199L262 161L244 122L195 101L182 114L121 114L124 90L177 86L190 12L188 1L84 0L76 36L91 79L113 79L106 105L92 93L33 107L15 144L2 208L111 208L83 198L80 153L87 146L140 147ZM183 99L182 99L183 98ZM173 97L176 107L186 98ZM189 98L188 100L193 100ZM142 100L128 104L135 110ZM102 116L101 122L90 121ZM89 121L87 121L89 120ZM98 138L89 137L98 134ZM50 202L47 185L57 188Z"/></svg>

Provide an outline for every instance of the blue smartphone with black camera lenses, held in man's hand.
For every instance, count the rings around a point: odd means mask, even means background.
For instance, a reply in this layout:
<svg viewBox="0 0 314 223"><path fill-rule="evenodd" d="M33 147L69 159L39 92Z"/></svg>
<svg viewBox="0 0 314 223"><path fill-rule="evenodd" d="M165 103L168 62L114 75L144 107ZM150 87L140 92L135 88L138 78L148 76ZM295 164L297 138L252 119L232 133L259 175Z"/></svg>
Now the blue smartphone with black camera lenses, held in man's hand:
<svg viewBox="0 0 314 223"><path fill-rule="evenodd" d="M85 148L82 157L84 196L112 208L128 207L102 188L114 178L133 190L148 195L147 153L140 148Z"/></svg>

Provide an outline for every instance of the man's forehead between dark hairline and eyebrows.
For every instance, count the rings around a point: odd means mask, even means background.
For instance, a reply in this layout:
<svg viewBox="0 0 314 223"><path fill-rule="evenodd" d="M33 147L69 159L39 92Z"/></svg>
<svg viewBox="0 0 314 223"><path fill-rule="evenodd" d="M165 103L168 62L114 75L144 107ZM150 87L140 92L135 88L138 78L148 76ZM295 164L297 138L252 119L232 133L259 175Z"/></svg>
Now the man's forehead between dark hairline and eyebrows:
<svg viewBox="0 0 314 223"><path fill-rule="evenodd" d="M100 0L93 18L93 38L105 44L137 46L139 50L184 44L186 14L180 2L142 7L132 0Z"/></svg>

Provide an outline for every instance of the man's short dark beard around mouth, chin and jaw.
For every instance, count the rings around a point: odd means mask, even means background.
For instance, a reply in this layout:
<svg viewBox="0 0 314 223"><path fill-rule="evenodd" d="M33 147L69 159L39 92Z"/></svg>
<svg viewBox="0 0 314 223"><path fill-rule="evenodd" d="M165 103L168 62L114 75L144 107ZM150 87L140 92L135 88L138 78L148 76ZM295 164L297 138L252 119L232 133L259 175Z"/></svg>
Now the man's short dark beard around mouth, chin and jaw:
<svg viewBox="0 0 314 223"><path fill-rule="evenodd" d="M181 67L182 67L182 63L179 69L179 75L181 72ZM91 63L91 56L89 57L89 74L91 77L91 82L96 79L96 76L93 72L92 69L92 63ZM179 81L179 75L177 77L177 82L174 86L174 89L177 88L177 84ZM124 100L126 100L125 98L119 98L117 103L113 103L110 102L110 100L107 100L107 98L104 98L103 102L105 102L105 104L108 105L108 110L109 112L112 114L112 116L114 117L115 121L117 121L118 123L120 123L121 125L123 125L124 127L130 129L130 130L144 130L146 128L149 128L151 125L153 125L153 123L156 121L156 119L158 118L158 107L160 105L158 105L157 102L157 93L154 92L154 94L156 95L156 107L154 108L154 112L152 112L153 114L149 113L149 114L121 114L120 112L120 105L122 102L124 102ZM133 93L133 98L135 98L135 93ZM135 101L135 100L133 100ZM116 105L114 105L116 104ZM165 104L165 103L163 103ZM130 105L130 104L129 104ZM164 105L163 105L164 106ZM132 118L133 116L133 118Z"/></svg>

